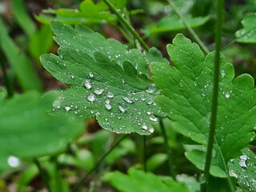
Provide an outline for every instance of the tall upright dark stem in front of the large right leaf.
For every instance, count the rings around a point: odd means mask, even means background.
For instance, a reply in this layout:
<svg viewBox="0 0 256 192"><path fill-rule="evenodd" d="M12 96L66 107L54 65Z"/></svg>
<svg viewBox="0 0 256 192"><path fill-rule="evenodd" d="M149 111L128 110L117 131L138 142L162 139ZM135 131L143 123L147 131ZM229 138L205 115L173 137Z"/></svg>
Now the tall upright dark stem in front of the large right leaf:
<svg viewBox="0 0 256 192"><path fill-rule="evenodd" d="M212 151L214 146L214 134L217 122L217 110L218 110L218 80L219 80L219 66L220 55L222 49L222 18L223 18L223 0L217 2L217 21L215 26L215 65L214 65L214 90L212 98L212 111L210 116L210 132L206 150L206 163L204 170L206 191L209 182L210 162L212 158Z"/></svg>

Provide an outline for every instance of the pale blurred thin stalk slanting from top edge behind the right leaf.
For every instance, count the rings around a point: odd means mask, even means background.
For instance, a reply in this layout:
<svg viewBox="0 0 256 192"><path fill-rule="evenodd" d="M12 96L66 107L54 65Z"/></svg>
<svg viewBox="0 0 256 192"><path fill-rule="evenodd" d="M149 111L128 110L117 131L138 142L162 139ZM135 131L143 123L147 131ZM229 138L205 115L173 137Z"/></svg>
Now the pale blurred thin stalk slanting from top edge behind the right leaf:
<svg viewBox="0 0 256 192"><path fill-rule="evenodd" d="M167 0L171 6L171 8L174 10L174 12L178 15L178 18L182 20L182 23L184 26L186 26L187 30L190 31L190 34L194 37L195 41L198 42L198 45L201 46L202 50L205 52L205 54L209 54L210 50L205 46L205 44L201 41L201 39L198 37L198 35L194 32L192 27L188 22L186 22L186 18L182 15L182 13L178 10L178 8L175 6L174 2L172 0Z"/></svg>

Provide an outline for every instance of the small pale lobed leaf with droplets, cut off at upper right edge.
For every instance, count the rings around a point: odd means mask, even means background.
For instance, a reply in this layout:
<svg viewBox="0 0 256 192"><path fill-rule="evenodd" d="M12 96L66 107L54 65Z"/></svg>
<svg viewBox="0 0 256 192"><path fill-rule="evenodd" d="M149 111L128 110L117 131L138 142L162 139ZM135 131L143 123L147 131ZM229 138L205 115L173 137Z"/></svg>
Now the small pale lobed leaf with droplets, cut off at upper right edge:
<svg viewBox="0 0 256 192"><path fill-rule="evenodd" d="M237 38L237 42L245 42L245 43L256 43L256 15L255 14L246 14L244 18L242 18L242 26L241 30L238 30L235 33L235 37Z"/></svg>

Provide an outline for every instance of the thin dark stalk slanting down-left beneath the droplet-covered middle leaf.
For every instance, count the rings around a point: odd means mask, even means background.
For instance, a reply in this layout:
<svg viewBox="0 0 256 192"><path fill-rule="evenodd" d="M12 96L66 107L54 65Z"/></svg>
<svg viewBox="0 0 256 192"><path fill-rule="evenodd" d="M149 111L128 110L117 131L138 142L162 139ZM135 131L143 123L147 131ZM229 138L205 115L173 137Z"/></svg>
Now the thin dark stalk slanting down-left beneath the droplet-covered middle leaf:
<svg viewBox="0 0 256 192"><path fill-rule="evenodd" d="M100 159L98 160L98 162L94 165L94 167L93 167L91 170L89 170L89 171L87 172L87 174L86 174L84 177L81 178L81 180L78 182L78 184L76 184L76 185L73 187L73 189L72 189L71 191L72 191L72 192L78 191L79 187L82 186L82 182L84 182L84 181L86 180L86 178L88 178L88 176L89 176L90 174L92 174L92 173L94 172L94 170L96 170L96 169L98 168L98 166L100 166L100 164L101 164L101 163L104 161L104 159L111 153L111 151L114 150L114 148L117 147L117 146L119 145L119 143L122 142L122 140L123 140L124 138L126 138L127 136L128 136L128 134L125 134L124 136L122 136L122 138L120 138L120 139L118 140L118 142L116 142L116 143L114 144L114 146L112 146L112 147L110 148L110 150L108 150L108 151L106 152L106 154L104 154L104 155L102 156L102 158L100 158Z"/></svg>

